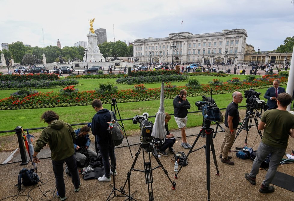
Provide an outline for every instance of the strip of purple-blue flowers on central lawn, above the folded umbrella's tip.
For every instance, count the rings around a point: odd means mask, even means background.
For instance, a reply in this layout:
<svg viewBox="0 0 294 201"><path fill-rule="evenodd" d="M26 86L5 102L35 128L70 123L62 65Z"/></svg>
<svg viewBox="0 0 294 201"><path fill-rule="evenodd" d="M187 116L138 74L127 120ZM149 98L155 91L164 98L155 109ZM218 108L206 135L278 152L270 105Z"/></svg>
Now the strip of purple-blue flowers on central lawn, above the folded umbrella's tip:
<svg viewBox="0 0 294 201"><path fill-rule="evenodd" d="M162 80L164 82L167 81L183 81L188 79L188 76L186 75L158 75L158 76L137 76L137 77L122 77L118 78L116 82L118 84L141 84L141 83L158 83Z"/></svg>

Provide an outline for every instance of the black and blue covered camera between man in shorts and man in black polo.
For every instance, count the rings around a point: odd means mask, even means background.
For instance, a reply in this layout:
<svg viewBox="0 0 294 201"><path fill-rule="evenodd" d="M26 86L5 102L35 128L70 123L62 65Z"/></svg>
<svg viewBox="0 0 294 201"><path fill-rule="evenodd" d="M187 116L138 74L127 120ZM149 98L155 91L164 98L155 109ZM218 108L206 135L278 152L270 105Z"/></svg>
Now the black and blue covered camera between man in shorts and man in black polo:
<svg viewBox="0 0 294 201"><path fill-rule="evenodd" d="M202 116L208 121L222 122L221 111L216 105L216 102L211 97L202 96L202 101L196 101L195 105L198 110L202 110Z"/></svg>

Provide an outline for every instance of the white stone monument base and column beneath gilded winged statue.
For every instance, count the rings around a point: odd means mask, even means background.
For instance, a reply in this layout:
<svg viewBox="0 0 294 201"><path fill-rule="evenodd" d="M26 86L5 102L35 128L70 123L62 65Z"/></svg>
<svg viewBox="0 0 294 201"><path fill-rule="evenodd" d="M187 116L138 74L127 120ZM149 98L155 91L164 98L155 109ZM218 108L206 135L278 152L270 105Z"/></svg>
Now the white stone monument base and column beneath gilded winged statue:
<svg viewBox="0 0 294 201"><path fill-rule="evenodd" d="M88 37L88 45L87 45L87 60L88 62L96 62L103 61L105 62L104 57L100 53L99 47L97 45L97 35L89 31ZM86 53L84 54L83 60L86 61Z"/></svg>

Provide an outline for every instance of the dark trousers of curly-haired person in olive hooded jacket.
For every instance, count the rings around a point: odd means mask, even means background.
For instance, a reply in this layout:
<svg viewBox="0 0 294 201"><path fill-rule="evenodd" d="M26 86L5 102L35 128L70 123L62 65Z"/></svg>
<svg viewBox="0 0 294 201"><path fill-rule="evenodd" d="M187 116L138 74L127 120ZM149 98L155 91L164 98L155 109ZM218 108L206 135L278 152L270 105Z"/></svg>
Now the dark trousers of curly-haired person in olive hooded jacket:
<svg viewBox="0 0 294 201"><path fill-rule="evenodd" d="M63 180L63 163L66 162L66 165L69 169L69 172L72 177L72 184L74 184L75 189L78 189L81 182L80 177L78 175L78 167L77 161L75 159L75 155L69 156L66 159L59 160L59 161L52 161L53 165L53 172L55 176L55 184L57 187L57 192L60 197L65 196L65 184Z"/></svg>

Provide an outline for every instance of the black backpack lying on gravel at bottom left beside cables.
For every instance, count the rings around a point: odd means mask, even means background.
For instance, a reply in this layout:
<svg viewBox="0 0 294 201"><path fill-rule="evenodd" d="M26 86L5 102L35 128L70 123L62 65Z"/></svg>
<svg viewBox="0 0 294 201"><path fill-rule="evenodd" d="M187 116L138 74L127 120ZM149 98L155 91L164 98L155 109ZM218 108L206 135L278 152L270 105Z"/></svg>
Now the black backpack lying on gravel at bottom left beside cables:
<svg viewBox="0 0 294 201"><path fill-rule="evenodd" d="M21 182L23 180L23 182ZM21 184L24 186L32 186L34 184L37 184L40 181L39 176L35 173L34 169L25 169L23 168L18 173L18 182L17 182L17 188L20 189Z"/></svg>

